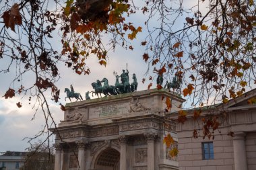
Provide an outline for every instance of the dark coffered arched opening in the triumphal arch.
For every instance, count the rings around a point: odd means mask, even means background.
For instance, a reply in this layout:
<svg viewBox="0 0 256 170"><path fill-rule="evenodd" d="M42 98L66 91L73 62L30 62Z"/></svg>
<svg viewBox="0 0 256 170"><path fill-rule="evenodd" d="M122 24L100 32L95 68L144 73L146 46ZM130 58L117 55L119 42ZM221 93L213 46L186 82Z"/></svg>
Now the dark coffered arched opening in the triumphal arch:
<svg viewBox="0 0 256 170"><path fill-rule="evenodd" d="M120 153L114 148L107 148L102 151L96 161L95 169L97 170L119 170Z"/></svg>

